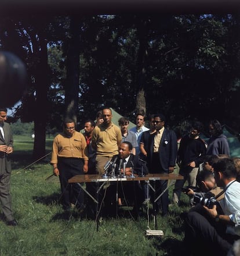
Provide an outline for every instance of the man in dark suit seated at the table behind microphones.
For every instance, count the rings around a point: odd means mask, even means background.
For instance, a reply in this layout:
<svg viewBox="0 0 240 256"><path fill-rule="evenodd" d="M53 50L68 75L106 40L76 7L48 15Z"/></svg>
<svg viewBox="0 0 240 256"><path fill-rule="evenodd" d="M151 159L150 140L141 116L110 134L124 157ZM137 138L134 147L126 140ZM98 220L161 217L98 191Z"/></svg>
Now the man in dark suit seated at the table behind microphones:
<svg viewBox="0 0 240 256"><path fill-rule="evenodd" d="M123 173L123 165L125 164L125 175L129 176L134 172L134 175L140 174L142 171L144 174L148 173L148 169L145 163L139 160L139 157L131 154L132 144L129 141L125 141L119 146L119 154L111 159L114 163L115 175L119 177ZM111 169L111 168L110 168ZM120 184L119 184L120 183ZM127 204L134 204L134 213L137 214L141 203L144 201L143 189L138 181L114 182L112 186L108 187L106 191L106 213L113 214L117 211L118 197L123 198Z"/></svg>

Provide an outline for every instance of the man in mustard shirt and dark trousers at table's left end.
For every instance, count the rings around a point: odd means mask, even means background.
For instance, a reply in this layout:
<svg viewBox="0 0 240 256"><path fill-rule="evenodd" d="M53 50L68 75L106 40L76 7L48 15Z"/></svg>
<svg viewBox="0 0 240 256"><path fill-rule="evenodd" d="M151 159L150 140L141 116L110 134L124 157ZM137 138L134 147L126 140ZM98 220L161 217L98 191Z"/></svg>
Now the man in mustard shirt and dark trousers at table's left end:
<svg viewBox="0 0 240 256"><path fill-rule="evenodd" d="M86 140L82 133L75 131L75 122L72 119L64 120L63 133L53 140L52 159L53 173L59 176L63 209L70 211L71 193L76 207L84 208L84 192L77 183L68 183L68 179L75 175L88 172L88 156ZM72 190L72 192L71 192Z"/></svg>

